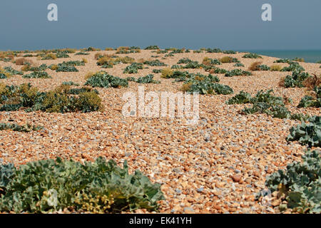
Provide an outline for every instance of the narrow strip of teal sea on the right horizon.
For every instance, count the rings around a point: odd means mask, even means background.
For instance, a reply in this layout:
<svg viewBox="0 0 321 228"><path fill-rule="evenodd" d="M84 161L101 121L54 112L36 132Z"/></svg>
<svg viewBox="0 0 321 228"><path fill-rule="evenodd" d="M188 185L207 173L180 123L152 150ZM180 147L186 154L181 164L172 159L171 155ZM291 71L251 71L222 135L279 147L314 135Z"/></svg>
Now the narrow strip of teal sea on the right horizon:
<svg viewBox="0 0 321 228"><path fill-rule="evenodd" d="M246 50L240 50L246 51ZM318 51L267 51L267 50L251 50L249 52L257 53L263 56L272 56L277 58L304 58L306 63L316 63L321 61L321 50Z"/></svg>

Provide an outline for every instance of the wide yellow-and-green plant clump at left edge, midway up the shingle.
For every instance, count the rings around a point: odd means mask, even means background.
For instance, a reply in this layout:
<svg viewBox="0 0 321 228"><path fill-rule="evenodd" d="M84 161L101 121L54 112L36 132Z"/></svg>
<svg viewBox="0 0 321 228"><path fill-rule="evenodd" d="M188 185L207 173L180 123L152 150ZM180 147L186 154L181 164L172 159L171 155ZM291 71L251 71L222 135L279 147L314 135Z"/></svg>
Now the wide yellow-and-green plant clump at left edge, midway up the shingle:
<svg viewBox="0 0 321 228"><path fill-rule="evenodd" d="M27 112L42 110L46 112L91 112L103 110L101 98L95 91L86 90L73 96L68 86L59 86L49 92L39 92L31 84L6 86L0 84L0 110L13 111L26 108Z"/></svg>

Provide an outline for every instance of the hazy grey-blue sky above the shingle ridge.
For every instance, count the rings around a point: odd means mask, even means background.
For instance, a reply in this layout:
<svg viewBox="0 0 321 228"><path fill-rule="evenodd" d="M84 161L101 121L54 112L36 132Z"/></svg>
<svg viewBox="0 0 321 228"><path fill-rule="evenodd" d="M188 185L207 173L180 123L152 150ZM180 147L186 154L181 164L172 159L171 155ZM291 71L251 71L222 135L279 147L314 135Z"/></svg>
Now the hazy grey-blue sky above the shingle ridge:
<svg viewBox="0 0 321 228"><path fill-rule="evenodd" d="M58 21L47 6L58 5ZM261 6L272 5L272 21ZM1 0L0 49L321 50L320 0Z"/></svg>

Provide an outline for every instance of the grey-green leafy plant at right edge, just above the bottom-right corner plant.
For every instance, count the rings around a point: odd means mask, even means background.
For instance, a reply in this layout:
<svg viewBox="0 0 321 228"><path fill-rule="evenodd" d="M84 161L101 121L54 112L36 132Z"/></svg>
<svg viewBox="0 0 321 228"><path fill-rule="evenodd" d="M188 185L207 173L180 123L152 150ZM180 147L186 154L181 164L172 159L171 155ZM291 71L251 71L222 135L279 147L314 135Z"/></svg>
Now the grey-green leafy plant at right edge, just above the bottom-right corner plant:
<svg viewBox="0 0 321 228"><path fill-rule="evenodd" d="M308 147L321 147L321 116L309 118L308 123L290 128L287 141L298 141L301 145Z"/></svg>

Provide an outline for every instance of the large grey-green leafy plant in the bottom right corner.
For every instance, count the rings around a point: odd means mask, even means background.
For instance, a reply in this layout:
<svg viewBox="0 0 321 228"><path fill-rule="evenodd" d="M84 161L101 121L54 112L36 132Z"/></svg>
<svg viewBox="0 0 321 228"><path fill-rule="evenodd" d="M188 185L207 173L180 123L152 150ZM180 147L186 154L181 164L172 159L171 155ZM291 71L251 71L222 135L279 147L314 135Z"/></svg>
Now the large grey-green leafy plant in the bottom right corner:
<svg viewBox="0 0 321 228"><path fill-rule="evenodd" d="M320 150L308 150L302 162L293 162L285 170L278 170L267 177L265 185L285 203L280 210L292 212L321 213L320 206Z"/></svg>

